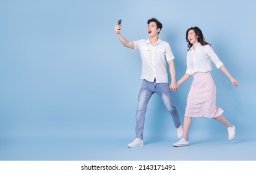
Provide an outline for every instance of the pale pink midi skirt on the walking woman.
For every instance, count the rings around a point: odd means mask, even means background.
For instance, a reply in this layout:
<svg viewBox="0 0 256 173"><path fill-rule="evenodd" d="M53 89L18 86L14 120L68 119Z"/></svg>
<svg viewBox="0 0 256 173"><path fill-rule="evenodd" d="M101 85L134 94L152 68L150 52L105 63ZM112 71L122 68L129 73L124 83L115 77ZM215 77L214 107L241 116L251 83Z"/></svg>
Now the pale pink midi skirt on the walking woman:
<svg viewBox="0 0 256 173"><path fill-rule="evenodd" d="M194 74L185 116L216 118L223 114L223 109L216 106L216 86L211 73Z"/></svg>

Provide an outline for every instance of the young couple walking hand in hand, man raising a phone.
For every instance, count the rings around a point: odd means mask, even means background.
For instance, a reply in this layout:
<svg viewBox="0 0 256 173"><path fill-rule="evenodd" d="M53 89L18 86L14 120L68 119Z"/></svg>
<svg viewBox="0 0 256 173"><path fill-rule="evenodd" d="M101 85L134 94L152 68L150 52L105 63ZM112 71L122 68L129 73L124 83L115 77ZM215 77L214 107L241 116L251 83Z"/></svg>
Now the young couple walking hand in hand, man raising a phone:
<svg viewBox="0 0 256 173"><path fill-rule="evenodd" d="M145 114L148 101L153 93L160 96L164 106L173 118L174 126L177 129L177 137L181 138L173 146L189 145L188 134L192 117L208 117L218 120L226 125L228 128L228 140L232 140L235 137L236 129L233 124L229 123L222 116L223 109L216 106L216 87L211 77L211 61L229 77L235 87L238 86L238 82L229 74L210 44L205 41L200 28L192 27L186 32L186 40L189 47L187 52L187 70L186 74L176 82L173 51L169 43L160 40L158 36L163 25L155 18L149 19L147 23L149 37L147 40L128 41L121 35L121 24L116 25L114 28L121 43L127 48L139 49L142 59L142 85L140 86L136 112L136 138L128 144L128 147L143 146ZM171 85L168 85L166 61L169 65ZM192 75L194 76L194 80L187 98L182 127L170 89L177 91L179 85L186 82Z"/></svg>

